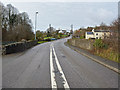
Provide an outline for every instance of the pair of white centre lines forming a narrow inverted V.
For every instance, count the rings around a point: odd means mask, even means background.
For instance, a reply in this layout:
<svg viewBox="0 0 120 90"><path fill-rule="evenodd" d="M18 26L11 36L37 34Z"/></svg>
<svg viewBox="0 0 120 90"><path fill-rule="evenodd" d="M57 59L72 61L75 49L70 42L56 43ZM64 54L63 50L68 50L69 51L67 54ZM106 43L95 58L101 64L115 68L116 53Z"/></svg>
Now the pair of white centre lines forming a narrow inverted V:
<svg viewBox="0 0 120 90"><path fill-rule="evenodd" d="M53 58L52 58L52 55L54 54L54 56L55 56L55 62L56 62L56 64L57 64L57 67L58 67L58 70L59 70L59 72L62 74L61 75L61 77L63 78L63 86L64 86L64 88L65 89L69 89L70 87L69 87L69 85L68 85L68 83L67 83L67 80L66 80L66 78L65 78L65 75L64 75L64 73L63 73L63 71L62 71L62 68L61 68L61 66L60 66L60 63L59 63L59 61L58 61L58 58L57 58L57 55L56 55L56 53L55 53L55 49L54 49L54 46L53 46L53 44L51 44L50 45L50 73L51 73L51 87L52 88L57 88L57 83L56 83L56 80L55 80L55 72L54 72L54 66L53 66Z"/></svg>

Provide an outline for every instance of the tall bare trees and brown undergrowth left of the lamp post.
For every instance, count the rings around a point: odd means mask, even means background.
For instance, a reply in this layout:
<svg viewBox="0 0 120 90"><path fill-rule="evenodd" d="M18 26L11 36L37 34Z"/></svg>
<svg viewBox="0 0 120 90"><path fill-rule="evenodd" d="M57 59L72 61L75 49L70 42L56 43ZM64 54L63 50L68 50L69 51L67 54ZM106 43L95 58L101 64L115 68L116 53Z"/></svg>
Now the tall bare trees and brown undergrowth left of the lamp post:
<svg viewBox="0 0 120 90"><path fill-rule="evenodd" d="M18 9L11 4L4 6L0 3L0 8L2 8L0 17L3 42L17 42L22 39L32 40L34 38L32 21L26 12L20 13Z"/></svg>

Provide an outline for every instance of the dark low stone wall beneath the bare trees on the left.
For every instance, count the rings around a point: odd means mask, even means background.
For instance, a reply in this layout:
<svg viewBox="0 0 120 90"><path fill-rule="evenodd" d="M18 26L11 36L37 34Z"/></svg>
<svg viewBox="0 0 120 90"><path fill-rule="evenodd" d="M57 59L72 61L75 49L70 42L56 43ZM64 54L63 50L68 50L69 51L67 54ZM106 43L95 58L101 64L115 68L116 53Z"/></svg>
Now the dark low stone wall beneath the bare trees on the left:
<svg viewBox="0 0 120 90"><path fill-rule="evenodd" d="M28 48L31 48L34 45L37 45L37 41L17 42L17 43L11 43L8 45L3 45L2 54L5 55L10 53L21 52Z"/></svg>

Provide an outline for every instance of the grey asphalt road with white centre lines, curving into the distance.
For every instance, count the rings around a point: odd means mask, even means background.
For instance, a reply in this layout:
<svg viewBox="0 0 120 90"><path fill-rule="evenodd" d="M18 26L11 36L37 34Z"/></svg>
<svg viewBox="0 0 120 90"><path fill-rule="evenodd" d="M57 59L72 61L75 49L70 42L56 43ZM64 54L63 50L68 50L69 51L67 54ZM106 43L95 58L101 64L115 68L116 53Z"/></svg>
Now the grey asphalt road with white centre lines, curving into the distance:
<svg viewBox="0 0 120 90"><path fill-rule="evenodd" d="M3 56L3 88L117 88L118 74L64 45L67 39Z"/></svg>

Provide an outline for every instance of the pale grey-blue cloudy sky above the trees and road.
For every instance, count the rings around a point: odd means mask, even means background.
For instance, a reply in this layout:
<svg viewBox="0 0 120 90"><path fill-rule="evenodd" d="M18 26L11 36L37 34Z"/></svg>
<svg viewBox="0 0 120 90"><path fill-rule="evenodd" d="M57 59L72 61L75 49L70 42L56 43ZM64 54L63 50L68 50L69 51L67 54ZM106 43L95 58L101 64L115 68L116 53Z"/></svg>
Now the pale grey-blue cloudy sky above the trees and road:
<svg viewBox="0 0 120 90"><path fill-rule="evenodd" d="M96 0L97 1L97 0ZM37 15L37 30L45 31L49 24L58 29L74 30L81 27L109 25L118 17L118 0L3 0L4 5L10 3L20 12L27 12L35 26L35 12ZM34 28L33 28L34 30Z"/></svg>

